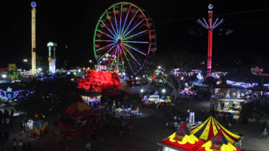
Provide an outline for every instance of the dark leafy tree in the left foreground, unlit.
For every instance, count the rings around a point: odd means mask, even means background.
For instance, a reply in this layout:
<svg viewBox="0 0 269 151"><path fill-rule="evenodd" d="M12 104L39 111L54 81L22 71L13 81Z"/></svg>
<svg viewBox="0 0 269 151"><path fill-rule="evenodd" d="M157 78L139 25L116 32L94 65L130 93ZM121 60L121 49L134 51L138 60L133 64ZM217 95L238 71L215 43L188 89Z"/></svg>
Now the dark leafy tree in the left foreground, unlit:
<svg viewBox="0 0 269 151"><path fill-rule="evenodd" d="M26 113L26 117L42 113L48 119L50 130L53 117L83 92L77 88L76 82L70 80L71 76L55 74L33 78L28 84L28 90L34 92L24 95L17 101L17 111Z"/></svg>

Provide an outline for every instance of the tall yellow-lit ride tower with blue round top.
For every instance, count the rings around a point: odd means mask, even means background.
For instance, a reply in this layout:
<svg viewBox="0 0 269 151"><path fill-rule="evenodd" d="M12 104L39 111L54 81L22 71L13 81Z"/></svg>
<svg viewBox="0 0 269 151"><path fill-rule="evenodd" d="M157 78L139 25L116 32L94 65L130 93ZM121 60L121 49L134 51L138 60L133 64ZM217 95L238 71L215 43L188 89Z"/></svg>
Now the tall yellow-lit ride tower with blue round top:
<svg viewBox="0 0 269 151"><path fill-rule="evenodd" d="M35 7L37 3L31 2L32 6L32 75L37 73L35 58Z"/></svg>

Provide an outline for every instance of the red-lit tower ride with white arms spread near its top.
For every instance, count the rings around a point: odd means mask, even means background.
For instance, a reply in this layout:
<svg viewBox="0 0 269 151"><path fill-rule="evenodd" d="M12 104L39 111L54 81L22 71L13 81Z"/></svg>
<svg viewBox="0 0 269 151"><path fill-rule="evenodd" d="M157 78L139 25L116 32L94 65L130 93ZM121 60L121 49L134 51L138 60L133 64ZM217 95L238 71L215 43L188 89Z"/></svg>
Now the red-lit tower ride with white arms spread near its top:
<svg viewBox="0 0 269 151"><path fill-rule="evenodd" d="M217 22L219 18L216 19L215 23L213 24L213 11L212 11L213 5L210 3L208 5L208 23L206 23L206 20L203 19L204 23L198 19L197 22L206 29L208 29L208 77L211 75L212 71L212 33L213 29L220 25L223 22L223 19L221 21Z"/></svg>

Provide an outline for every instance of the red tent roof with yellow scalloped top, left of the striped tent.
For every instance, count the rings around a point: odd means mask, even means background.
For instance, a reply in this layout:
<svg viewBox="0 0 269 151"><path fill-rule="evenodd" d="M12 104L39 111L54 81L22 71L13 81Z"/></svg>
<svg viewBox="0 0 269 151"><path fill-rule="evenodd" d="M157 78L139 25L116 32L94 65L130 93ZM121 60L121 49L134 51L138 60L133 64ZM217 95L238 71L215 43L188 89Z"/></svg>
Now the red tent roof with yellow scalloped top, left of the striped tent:
<svg viewBox="0 0 269 151"><path fill-rule="evenodd" d="M179 130L170 137L159 141L157 144L164 148L172 148L173 150L196 150L201 147L205 141L197 139L195 135L190 133L185 122L180 126Z"/></svg>

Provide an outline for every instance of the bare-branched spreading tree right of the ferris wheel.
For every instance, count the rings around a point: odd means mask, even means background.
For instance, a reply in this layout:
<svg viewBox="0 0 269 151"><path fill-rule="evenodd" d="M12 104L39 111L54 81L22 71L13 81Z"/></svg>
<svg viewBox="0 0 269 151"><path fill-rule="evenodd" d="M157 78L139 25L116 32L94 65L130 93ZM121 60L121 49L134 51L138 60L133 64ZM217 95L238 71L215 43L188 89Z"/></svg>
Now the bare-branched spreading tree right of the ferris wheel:
<svg viewBox="0 0 269 151"><path fill-rule="evenodd" d="M199 54L190 54L183 50L168 50L163 53L155 54L155 57L148 61L152 61L152 65L161 66L159 77L174 92L173 101L177 100L179 91L184 82L188 82L188 72L192 69L199 68L205 58ZM176 75L174 71L177 70Z"/></svg>

